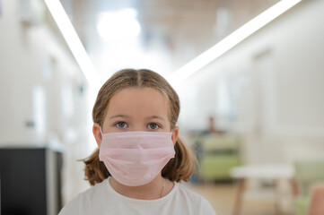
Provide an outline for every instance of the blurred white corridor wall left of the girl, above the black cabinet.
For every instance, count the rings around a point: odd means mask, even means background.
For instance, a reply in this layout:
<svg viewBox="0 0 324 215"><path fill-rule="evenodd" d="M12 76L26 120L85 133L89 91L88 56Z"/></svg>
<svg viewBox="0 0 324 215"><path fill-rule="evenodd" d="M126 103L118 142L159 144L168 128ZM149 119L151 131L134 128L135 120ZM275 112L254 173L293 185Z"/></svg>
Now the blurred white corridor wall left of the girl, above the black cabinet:
<svg viewBox="0 0 324 215"><path fill-rule="evenodd" d="M68 200L88 187L77 161L93 149L87 82L43 1L30 2L43 8L39 24L22 23L22 1L1 1L0 147L60 143Z"/></svg>

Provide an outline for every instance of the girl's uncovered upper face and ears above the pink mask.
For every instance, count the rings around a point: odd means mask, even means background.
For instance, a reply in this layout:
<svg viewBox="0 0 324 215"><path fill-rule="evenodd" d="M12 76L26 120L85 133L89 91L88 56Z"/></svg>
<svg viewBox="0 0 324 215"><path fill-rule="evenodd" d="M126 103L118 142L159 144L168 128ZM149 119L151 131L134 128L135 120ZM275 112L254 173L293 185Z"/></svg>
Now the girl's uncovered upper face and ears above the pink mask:
<svg viewBox="0 0 324 215"><path fill-rule="evenodd" d="M102 133L171 132L167 99L152 88L127 88L118 91L110 100L102 125ZM95 126L93 133L95 134ZM172 141L178 137L178 128L172 131ZM101 138L99 138L101 139ZM96 138L97 140L97 138ZM97 140L98 144L101 140Z"/></svg>

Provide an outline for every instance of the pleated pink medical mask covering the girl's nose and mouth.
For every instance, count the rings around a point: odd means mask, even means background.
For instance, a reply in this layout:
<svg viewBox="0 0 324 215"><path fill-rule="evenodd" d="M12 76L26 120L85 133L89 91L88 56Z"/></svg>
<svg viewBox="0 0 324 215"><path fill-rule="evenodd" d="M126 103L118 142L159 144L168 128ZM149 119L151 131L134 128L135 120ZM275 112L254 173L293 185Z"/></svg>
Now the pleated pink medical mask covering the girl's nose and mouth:
<svg viewBox="0 0 324 215"><path fill-rule="evenodd" d="M99 159L122 185L150 183L174 158L172 133L103 133Z"/></svg>

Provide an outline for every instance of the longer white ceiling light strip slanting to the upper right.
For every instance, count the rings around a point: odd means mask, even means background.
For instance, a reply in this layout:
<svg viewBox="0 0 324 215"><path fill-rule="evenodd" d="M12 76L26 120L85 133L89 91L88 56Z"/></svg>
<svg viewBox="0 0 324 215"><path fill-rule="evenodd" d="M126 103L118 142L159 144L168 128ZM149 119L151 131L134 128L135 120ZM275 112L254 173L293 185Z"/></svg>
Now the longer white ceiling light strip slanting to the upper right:
<svg viewBox="0 0 324 215"><path fill-rule="evenodd" d="M216 58L222 56L232 47L239 44L243 39L248 38L251 34L267 25L268 22L275 20L276 17L285 13L285 11L301 1L302 0L282 0L271 6L265 12L260 13L257 17L250 20L250 22L245 23L238 30L233 31L229 36L215 44L214 47L207 49L204 53L189 61L188 64L183 65L179 70L171 73L168 79L172 84L186 80L189 76L197 73L197 71L206 64L210 64Z"/></svg>

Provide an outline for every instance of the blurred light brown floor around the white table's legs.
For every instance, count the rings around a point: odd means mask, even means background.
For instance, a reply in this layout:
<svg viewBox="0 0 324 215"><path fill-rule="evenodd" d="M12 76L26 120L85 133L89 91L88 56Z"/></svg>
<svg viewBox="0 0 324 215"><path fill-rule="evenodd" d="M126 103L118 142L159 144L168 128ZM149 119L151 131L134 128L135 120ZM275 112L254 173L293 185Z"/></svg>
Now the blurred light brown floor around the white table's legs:
<svg viewBox="0 0 324 215"><path fill-rule="evenodd" d="M188 188L202 194L213 206L217 215L232 215L234 199L237 192L236 185L206 184L188 185ZM276 211L275 203L269 200L244 200L241 207L241 215L282 215Z"/></svg>

